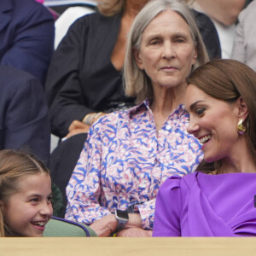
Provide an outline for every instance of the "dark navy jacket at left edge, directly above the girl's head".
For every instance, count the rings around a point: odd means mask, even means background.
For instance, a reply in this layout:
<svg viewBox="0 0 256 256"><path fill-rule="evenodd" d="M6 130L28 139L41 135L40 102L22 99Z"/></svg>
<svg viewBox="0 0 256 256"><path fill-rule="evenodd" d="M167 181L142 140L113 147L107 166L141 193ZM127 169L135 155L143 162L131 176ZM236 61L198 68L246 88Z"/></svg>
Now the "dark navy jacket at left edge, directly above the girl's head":
<svg viewBox="0 0 256 256"><path fill-rule="evenodd" d="M49 143L42 84L30 73L0 65L0 150L26 148L49 165Z"/></svg>

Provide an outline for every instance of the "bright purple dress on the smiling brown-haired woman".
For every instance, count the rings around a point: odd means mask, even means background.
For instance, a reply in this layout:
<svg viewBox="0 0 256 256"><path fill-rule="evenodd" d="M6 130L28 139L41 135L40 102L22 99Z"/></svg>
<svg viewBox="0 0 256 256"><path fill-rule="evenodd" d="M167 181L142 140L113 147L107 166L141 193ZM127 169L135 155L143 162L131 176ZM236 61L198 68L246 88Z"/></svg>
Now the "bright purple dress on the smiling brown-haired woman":
<svg viewBox="0 0 256 256"><path fill-rule="evenodd" d="M256 236L256 173L169 177L156 198L153 236Z"/></svg>

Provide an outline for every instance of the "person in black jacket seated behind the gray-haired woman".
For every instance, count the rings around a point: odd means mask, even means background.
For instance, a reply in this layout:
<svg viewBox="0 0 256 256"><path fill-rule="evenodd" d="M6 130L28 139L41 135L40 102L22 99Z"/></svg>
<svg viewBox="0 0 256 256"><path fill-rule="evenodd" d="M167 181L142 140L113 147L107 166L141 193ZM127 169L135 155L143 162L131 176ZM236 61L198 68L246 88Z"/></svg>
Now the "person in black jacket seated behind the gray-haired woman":
<svg viewBox="0 0 256 256"><path fill-rule="evenodd" d="M45 85L53 134L67 138L88 132L104 113L134 106L122 84L125 45L131 24L146 3L148 0L101 0L98 12L70 27L55 50ZM212 20L193 12L208 54L219 58L218 32Z"/></svg>

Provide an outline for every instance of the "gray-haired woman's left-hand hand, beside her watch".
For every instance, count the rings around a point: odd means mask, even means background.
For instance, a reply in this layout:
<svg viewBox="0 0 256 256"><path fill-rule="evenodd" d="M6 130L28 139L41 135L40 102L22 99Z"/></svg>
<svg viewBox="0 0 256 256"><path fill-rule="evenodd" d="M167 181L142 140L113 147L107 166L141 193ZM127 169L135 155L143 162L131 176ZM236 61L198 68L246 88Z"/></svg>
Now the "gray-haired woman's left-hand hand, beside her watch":
<svg viewBox="0 0 256 256"><path fill-rule="evenodd" d="M90 225L90 228L94 230L97 236L107 237L110 236L117 228L117 220L113 214L104 216L96 220Z"/></svg>

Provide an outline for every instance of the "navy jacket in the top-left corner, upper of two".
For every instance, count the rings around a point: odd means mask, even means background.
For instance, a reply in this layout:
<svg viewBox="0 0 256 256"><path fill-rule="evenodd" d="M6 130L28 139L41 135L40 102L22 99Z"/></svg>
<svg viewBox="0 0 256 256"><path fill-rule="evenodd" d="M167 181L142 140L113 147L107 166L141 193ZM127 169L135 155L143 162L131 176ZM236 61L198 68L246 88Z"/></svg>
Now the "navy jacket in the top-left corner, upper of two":
<svg viewBox="0 0 256 256"><path fill-rule="evenodd" d="M31 73L44 85L54 37L54 17L41 3L0 1L1 65Z"/></svg>

